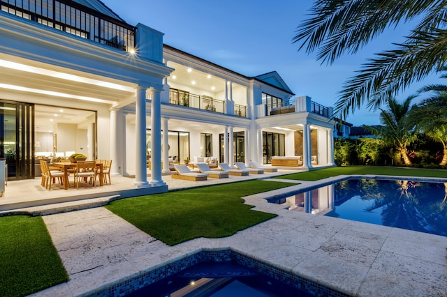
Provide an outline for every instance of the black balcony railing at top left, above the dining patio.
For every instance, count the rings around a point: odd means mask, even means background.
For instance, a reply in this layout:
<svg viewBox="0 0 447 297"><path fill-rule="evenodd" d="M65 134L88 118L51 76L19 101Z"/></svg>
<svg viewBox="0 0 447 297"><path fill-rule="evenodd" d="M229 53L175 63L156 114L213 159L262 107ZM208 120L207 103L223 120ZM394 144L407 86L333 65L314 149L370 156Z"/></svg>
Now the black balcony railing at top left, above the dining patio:
<svg viewBox="0 0 447 297"><path fill-rule="evenodd" d="M1 0L1 10L119 50L135 49L135 27L75 1Z"/></svg>

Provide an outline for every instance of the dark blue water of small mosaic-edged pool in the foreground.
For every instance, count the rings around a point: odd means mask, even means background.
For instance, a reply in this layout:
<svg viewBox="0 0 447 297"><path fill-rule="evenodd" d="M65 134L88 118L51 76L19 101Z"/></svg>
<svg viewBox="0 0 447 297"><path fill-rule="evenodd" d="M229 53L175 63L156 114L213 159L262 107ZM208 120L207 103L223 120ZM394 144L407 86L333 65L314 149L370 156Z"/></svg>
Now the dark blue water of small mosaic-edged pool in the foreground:
<svg viewBox="0 0 447 297"><path fill-rule="evenodd" d="M231 261L200 262L127 296L314 296Z"/></svg>

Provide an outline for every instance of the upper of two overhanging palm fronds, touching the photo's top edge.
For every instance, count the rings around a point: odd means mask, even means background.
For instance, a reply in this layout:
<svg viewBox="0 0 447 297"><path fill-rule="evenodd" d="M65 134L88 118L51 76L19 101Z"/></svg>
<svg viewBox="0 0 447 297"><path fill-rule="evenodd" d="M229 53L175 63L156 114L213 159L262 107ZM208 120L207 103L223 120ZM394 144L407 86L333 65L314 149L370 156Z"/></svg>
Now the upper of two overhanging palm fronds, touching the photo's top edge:
<svg viewBox="0 0 447 297"><path fill-rule="evenodd" d="M320 0L310 10L310 18L302 22L293 37L300 50L314 52L317 59L332 63L344 52L356 53L385 29L397 26L423 13L431 18L418 25L437 24L444 13L437 0Z"/></svg>

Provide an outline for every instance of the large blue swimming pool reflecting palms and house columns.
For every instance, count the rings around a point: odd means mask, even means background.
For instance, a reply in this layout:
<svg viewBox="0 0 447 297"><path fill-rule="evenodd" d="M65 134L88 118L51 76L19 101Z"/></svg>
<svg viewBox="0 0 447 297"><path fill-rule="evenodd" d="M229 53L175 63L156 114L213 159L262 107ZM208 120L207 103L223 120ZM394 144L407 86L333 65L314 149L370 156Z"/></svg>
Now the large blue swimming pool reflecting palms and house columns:
<svg viewBox="0 0 447 297"><path fill-rule="evenodd" d="M291 211L447 236L447 183L348 179L268 201Z"/></svg>

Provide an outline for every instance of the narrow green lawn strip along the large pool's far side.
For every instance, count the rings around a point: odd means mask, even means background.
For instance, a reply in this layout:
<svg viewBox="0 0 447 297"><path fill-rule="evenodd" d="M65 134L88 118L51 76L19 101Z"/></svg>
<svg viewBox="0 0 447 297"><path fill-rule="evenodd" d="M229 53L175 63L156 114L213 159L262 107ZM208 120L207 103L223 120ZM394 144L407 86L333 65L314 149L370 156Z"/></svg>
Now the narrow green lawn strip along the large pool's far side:
<svg viewBox="0 0 447 297"><path fill-rule="evenodd" d="M343 166L318 169L311 172L299 172L277 176L276 178L286 178L301 181L317 181L318 179L328 178L330 176L349 174L376 174L390 176L425 176L425 177L444 177L447 178L446 170L439 169L419 169L403 167L375 167L375 166Z"/></svg>

